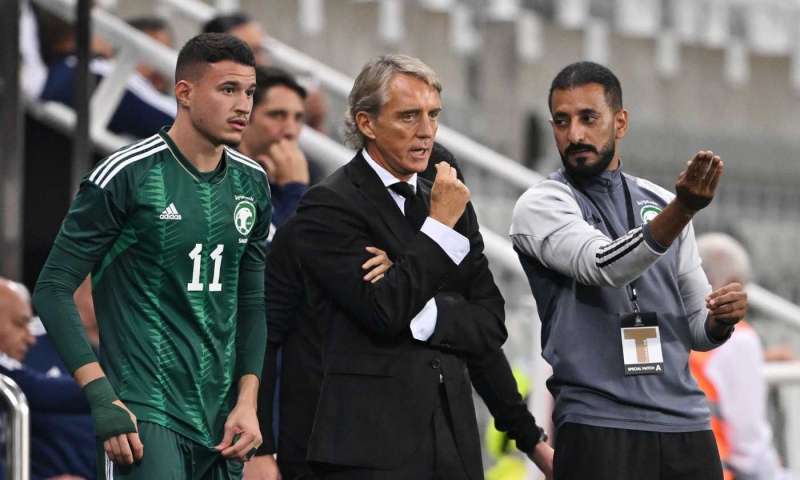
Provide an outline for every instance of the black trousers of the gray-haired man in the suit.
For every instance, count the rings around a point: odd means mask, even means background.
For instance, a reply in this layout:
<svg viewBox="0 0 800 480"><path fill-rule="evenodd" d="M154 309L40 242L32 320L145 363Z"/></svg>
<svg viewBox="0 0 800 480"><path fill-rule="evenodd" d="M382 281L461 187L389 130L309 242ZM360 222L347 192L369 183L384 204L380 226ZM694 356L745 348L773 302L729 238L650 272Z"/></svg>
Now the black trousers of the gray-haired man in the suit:
<svg viewBox="0 0 800 480"><path fill-rule="evenodd" d="M439 389L430 428L418 439L419 448L405 465L395 470L314 464L320 480L468 480L453 436L444 385Z"/></svg>

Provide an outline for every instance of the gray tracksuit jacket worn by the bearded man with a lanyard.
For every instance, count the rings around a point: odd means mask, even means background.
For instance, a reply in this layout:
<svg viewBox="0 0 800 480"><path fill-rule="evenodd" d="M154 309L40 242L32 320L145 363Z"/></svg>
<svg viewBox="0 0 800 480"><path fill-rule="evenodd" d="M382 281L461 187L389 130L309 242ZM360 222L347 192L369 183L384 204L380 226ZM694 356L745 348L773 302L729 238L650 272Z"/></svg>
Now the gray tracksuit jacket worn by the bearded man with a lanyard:
<svg viewBox="0 0 800 480"><path fill-rule="evenodd" d="M542 321L542 355L553 367L553 421L656 432L710 428L705 397L689 373L689 350L718 345L705 330L705 295L689 224L664 249L650 237L649 220L673 195L631 175L634 229L621 168L571 185L563 170L517 201L511 238L528 276ZM614 230L613 240L588 193ZM627 233L625 233L627 232ZM656 312L664 373L625 376L620 315L633 311L626 285L635 281L643 312Z"/></svg>

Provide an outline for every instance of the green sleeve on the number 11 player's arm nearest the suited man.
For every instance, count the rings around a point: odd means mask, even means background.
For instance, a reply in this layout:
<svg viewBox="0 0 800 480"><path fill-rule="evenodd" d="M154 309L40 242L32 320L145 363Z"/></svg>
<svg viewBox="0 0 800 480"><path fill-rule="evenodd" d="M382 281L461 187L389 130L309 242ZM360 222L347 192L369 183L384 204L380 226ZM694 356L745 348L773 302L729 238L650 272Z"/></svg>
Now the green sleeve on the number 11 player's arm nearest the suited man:
<svg viewBox="0 0 800 480"><path fill-rule="evenodd" d="M266 186L266 182L264 182ZM272 217L269 189L256 212L256 224L239 265L239 317L236 330L235 378L253 374L261 377L264 346L267 343L264 271L266 242Z"/></svg>

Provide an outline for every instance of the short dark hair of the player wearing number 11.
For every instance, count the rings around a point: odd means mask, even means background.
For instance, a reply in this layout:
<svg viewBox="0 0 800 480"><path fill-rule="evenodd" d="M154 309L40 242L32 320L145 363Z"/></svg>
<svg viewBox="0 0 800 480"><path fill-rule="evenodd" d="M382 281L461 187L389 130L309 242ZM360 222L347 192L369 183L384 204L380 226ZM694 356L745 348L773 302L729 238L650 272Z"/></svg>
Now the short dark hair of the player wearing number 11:
<svg viewBox="0 0 800 480"><path fill-rule="evenodd" d="M200 64L205 66L224 60L249 67L256 66L253 51L243 41L227 33L201 33L190 38L178 53L175 81L196 76Z"/></svg>

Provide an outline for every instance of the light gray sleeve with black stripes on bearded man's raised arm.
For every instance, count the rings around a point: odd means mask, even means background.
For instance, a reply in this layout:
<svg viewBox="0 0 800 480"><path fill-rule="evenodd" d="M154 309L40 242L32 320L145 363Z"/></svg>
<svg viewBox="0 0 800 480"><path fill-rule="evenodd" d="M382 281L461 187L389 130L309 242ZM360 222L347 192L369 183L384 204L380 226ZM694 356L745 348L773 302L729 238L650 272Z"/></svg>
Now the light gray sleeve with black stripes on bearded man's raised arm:
<svg viewBox="0 0 800 480"><path fill-rule="evenodd" d="M546 180L525 192L514 207L511 239L525 255L584 285L622 287L666 251L649 238L647 225L616 240L583 218L567 185Z"/></svg>

